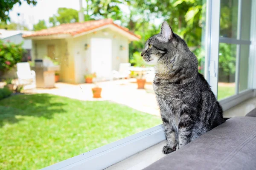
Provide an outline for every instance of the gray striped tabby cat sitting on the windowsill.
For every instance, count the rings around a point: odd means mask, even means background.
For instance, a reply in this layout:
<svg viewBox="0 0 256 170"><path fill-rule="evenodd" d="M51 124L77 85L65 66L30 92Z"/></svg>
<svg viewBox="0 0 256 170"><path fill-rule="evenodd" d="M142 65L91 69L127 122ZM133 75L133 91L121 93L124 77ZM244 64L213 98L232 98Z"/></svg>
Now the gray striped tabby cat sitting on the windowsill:
<svg viewBox="0 0 256 170"><path fill-rule="evenodd" d="M141 56L155 65L153 86L167 140L164 154L225 122L209 84L198 73L195 54L166 21L160 33L147 40Z"/></svg>

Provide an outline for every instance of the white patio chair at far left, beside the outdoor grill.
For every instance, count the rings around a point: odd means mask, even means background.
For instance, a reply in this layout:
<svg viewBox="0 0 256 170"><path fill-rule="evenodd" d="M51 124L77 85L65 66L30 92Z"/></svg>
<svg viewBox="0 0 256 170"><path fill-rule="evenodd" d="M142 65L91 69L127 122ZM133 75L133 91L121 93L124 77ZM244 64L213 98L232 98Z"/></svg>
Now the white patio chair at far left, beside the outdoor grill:
<svg viewBox="0 0 256 170"><path fill-rule="evenodd" d="M29 88L35 88L35 71L30 69L28 62L17 63L17 77L19 85L29 85ZM27 89L24 87L24 89Z"/></svg>

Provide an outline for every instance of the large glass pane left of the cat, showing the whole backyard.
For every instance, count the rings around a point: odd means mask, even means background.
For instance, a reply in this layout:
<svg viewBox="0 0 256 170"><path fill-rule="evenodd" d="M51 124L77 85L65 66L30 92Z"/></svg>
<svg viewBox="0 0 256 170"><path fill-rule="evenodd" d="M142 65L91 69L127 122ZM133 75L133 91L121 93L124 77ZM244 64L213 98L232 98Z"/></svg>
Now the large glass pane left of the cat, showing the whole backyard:
<svg viewBox="0 0 256 170"><path fill-rule="evenodd" d="M0 169L2 162L6 170L41 169L161 124L154 68L140 53L163 20L186 40L204 74L206 0L123 2L83 0L81 23L79 0L22 1L4 12L10 22L1 20L7 30L0 38L18 37L0 41ZM10 42L20 40L26 55L12 53L19 48ZM20 70L17 62L30 65ZM19 82L17 69L26 81ZM15 84L6 88L19 86L1 99L6 78Z"/></svg>

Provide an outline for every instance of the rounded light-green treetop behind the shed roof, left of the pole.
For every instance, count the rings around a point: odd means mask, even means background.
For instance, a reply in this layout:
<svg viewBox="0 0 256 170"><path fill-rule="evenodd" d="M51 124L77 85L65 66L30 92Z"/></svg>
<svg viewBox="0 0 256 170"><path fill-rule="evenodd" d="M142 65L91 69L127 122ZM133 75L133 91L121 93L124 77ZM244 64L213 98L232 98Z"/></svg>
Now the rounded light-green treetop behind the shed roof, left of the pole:
<svg viewBox="0 0 256 170"><path fill-rule="evenodd" d="M52 23L52 26L75 22L78 22L78 11L72 8L58 8L57 14L49 18L49 23Z"/></svg>

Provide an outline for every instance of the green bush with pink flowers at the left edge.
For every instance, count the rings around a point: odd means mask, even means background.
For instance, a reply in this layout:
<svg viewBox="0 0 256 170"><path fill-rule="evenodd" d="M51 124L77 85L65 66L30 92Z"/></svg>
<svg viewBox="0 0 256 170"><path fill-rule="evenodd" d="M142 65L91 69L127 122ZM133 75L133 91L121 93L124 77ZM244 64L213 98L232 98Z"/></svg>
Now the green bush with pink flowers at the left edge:
<svg viewBox="0 0 256 170"><path fill-rule="evenodd" d="M0 71L5 72L21 62L23 54L26 52L22 44L3 42L0 40Z"/></svg>

